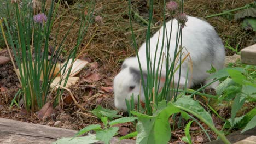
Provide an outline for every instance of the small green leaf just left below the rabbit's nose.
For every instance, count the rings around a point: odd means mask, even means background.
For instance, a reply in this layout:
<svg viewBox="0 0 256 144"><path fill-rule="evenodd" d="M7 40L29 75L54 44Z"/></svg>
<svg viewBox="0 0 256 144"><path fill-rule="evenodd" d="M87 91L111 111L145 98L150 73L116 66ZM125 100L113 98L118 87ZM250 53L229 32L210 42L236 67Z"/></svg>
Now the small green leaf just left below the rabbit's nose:
<svg viewBox="0 0 256 144"><path fill-rule="evenodd" d="M91 112L98 118L101 118L102 116L109 117L109 118L121 117L120 115L117 115L118 113L117 110L104 109L101 106L98 106L96 109L92 110Z"/></svg>

